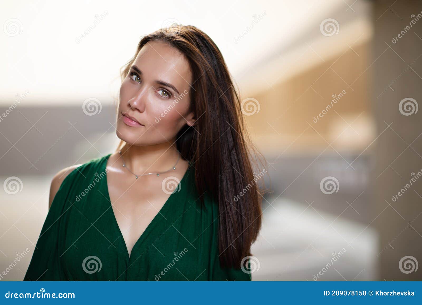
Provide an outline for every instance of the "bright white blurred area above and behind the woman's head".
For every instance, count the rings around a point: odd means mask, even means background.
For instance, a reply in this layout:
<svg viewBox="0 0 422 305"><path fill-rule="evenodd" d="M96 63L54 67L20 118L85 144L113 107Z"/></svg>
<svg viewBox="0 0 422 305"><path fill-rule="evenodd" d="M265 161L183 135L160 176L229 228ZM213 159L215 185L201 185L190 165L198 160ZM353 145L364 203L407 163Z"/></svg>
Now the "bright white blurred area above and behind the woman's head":
<svg viewBox="0 0 422 305"><path fill-rule="evenodd" d="M349 5L343 0L8 1L0 9L0 103L11 104L26 90L26 105L82 103L90 97L112 102L119 69L140 37L171 20L206 32L233 76L244 78L246 66L287 48L333 12L353 17L357 12ZM105 18L76 43L103 13ZM259 14L263 18L254 23ZM7 28L11 24L18 32ZM243 31L247 34L235 43Z"/></svg>

